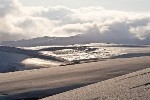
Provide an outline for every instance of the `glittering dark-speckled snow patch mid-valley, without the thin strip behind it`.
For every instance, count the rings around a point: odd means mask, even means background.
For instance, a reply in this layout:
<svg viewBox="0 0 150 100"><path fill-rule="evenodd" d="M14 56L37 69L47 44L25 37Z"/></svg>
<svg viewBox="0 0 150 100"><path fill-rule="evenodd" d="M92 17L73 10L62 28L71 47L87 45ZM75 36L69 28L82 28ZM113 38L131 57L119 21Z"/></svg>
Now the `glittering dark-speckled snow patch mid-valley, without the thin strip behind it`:
<svg viewBox="0 0 150 100"><path fill-rule="evenodd" d="M85 50L74 50L74 49L64 49L56 51L41 51L44 55L52 55L55 57L61 57L68 61L74 60L86 60L86 59L101 59L101 58L111 58L113 56L121 55L123 52L121 49L116 48L96 48L96 50L91 50L92 48L87 48ZM95 49L95 48L94 48Z"/></svg>

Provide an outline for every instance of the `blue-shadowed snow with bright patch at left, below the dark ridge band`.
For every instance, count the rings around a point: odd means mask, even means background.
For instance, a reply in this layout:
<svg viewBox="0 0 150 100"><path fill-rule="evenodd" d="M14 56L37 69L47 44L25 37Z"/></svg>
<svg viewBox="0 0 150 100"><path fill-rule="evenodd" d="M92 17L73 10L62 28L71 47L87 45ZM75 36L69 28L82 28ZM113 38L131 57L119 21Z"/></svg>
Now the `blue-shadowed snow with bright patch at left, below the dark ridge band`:
<svg viewBox="0 0 150 100"><path fill-rule="evenodd" d="M0 72L48 68L59 66L61 64L63 63L51 60L43 60L39 58L32 58L24 54L0 51Z"/></svg>

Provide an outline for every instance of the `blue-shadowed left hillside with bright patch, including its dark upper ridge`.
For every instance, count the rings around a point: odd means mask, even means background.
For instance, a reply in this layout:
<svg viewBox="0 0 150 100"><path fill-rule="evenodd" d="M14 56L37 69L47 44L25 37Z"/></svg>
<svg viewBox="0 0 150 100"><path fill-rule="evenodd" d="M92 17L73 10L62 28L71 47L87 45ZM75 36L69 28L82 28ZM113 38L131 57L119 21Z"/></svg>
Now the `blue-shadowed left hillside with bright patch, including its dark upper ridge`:
<svg viewBox="0 0 150 100"><path fill-rule="evenodd" d="M62 64L50 58L52 57L40 56L34 51L0 46L0 73L47 68Z"/></svg>

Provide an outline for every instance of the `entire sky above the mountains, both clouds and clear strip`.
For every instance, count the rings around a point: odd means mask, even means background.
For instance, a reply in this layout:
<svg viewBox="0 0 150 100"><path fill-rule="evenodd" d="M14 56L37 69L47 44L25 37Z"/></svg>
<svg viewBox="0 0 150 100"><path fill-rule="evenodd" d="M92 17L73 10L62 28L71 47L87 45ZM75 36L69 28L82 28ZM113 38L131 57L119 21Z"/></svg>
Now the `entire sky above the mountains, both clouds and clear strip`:
<svg viewBox="0 0 150 100"><path fill-rule="evenodd" d="M98 33L150 44L148 0L0 0L0 42Z"/></svg>

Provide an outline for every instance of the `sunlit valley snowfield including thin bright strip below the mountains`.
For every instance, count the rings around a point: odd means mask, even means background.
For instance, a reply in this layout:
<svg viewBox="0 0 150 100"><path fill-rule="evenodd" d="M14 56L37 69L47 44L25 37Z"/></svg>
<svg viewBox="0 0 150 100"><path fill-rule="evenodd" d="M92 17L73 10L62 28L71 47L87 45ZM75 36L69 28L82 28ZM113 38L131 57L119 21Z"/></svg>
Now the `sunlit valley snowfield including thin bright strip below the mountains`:
<svg viewBox="0 0 150 100"><path fill-rule="evenodd" d="M128 53L149 52L150 48L143 48L136 45L121 45L121 44L106 44L106 43L91 43L91 44L76 44L63 46L61 50L43 50L46 48L61 47L61 46L37 46L24 49L39 50L42 55L54 56L65 59L67 61L82 61L92 59L112 58ZM72 47L71 49L68 47Z"/></svg>

